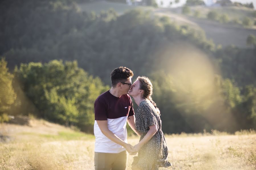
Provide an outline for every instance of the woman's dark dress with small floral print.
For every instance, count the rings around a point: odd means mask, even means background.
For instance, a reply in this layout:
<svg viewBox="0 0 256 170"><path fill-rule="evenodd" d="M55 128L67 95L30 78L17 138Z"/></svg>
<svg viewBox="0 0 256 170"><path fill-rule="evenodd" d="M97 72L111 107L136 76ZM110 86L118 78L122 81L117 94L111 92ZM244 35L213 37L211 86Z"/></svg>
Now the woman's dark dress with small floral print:
<svg viewBox="0 0 256 170"><path fill-rule="evenodd" d="M149 126L157 125L158 131L139 150L138 156L134 157L132 167L143 170L157 170L159 167L169 167L168 148L162 131L160 115L149 100L140 103L135 114L135 129L141 135L140 141L149 131Z"/></svg>

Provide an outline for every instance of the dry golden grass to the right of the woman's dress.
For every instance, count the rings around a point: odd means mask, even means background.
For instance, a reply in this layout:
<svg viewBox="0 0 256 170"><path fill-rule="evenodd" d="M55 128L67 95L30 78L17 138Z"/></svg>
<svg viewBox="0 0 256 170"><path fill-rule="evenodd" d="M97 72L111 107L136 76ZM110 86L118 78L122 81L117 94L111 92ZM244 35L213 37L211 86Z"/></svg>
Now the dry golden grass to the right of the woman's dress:
<svg viewBox="0 0 256 170"><path fill-rule="evenodd" d="M167 139L173 169L255 169L249 160L256 153L255 134Z"/></svg>

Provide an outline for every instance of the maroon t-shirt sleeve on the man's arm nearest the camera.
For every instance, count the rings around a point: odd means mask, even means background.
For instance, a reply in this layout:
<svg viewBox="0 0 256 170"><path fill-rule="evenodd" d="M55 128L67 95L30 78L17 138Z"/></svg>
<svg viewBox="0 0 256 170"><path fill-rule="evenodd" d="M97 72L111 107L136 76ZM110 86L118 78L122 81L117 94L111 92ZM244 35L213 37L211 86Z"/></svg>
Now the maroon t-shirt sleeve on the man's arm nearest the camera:
<svg viewBox="0 0 256 170"><path fill-rule="evenodd" d="M106 104L99 99L94 103L94 115L95 120L108 120Z"/></svg>

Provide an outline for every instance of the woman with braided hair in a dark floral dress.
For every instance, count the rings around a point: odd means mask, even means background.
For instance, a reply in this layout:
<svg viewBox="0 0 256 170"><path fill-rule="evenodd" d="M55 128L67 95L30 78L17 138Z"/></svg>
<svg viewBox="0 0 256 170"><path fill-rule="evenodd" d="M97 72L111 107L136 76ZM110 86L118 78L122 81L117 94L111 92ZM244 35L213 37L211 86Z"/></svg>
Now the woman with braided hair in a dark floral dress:
<svg viewBox="0 0 256 170"><path fill-rule="evenodd" d="M138 77L132 84L129 95L134 98L138 109L135 114L135 130L140 142L134 146L132 170L158 170L169 167L168 148L162 131L160 111L152 100L153 86L148 77Z"/></svg>

